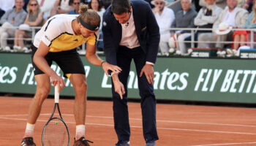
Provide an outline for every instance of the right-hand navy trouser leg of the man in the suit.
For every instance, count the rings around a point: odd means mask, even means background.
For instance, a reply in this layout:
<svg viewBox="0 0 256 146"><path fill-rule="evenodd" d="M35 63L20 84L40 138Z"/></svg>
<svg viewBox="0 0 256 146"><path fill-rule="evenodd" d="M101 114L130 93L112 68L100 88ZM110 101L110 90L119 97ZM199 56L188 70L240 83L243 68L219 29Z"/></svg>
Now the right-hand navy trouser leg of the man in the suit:
<svg viewBox="0 0 256 146"><path fill-rule="evenodd" d="M146 64L146 55L143 53L143 50L138 50L138 56L134 58L136 72L138 75L138 87L140 90L141 97L141 110L143 116L143 136L146 140L146 145L158 139L157 135L157 123L156 123L156 98L154 95L153 85L148 83L145 74L140 77L140 71L143 66Z"/></svg>

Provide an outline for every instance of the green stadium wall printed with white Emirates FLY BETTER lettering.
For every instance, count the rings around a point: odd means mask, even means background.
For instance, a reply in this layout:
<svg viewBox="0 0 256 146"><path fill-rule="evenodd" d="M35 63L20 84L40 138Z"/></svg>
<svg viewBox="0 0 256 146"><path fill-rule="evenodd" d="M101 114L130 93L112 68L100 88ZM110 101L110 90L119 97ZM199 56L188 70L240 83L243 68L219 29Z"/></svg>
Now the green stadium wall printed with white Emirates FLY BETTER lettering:
<svg viewBox="0 0 256 146"><path fill-rule="evenodd" d="M84 55L80 58L86 69L88 96L111 98L111 78L105 76L100 66L86 61ZM51 67L57 74L62 74L56 64ZM154 75L157 99L256 103L256 61L252 59L159 57ZM71 83L64 80L67 87L61 95L74 96ZM0 53L0 92L34 94L35 91L31 55ZM50 94L53 95L53 90ZM128 96L140 98L134 64L129 73Z"/></svg>

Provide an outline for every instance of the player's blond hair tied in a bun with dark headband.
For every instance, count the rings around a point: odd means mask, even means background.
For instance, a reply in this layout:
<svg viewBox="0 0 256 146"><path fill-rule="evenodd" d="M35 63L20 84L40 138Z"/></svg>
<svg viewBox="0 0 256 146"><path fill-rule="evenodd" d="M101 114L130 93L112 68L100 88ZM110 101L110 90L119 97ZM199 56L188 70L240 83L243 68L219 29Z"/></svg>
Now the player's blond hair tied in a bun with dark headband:
<svg viewBox="0 0 256 146"><path fill-rule="evenodd" d="M88 9L86 4L80 4L79 11L80 15L77 18L78 23L80 23L80 18L87 24L91 26L99 26L100 17L97 12L93 9Z"/></svg>

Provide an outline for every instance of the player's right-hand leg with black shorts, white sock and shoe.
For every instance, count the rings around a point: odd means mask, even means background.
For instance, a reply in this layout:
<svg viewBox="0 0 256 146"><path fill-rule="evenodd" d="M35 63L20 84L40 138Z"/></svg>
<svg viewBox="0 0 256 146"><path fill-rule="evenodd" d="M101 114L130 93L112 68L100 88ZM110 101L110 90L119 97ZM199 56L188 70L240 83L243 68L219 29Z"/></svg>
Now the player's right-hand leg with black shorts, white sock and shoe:
<svg viewBox="0 0 256 146"><path fill-rule="evenodd" d="M67 59L68 58L68 59ZM65 76L69 78L75 91L74 115L76 122L75 144L88 143L85 139L85 119L86 119L86 73L83 63L76 50L69 50L60 53L54 61L60 66Z"/></svg>

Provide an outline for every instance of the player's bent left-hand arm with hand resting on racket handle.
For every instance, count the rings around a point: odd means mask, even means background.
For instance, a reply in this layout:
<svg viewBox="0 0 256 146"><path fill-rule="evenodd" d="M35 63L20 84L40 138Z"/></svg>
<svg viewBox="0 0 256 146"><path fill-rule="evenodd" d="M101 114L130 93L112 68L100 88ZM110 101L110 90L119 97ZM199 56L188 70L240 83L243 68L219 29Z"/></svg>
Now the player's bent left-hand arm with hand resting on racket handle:
<svg viewBox="0 0 256 146"><path fill-rule="evenodd" d="M42 72L45 72L45 74L47 74L50 77L53 86L61 85L62 90L65 86L64 80L61 77L59 77L59 75L56 74L56 72L54 72L53 69L50 68L47 61L45 60L45 55L49 53L49 50L50 47L48 47L47 45L45 45L44 42L41 41L39 47L37 48L37 52L34 54L33 61L34 64L36 64L37 67L42 70Z"/></svg>

